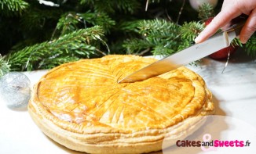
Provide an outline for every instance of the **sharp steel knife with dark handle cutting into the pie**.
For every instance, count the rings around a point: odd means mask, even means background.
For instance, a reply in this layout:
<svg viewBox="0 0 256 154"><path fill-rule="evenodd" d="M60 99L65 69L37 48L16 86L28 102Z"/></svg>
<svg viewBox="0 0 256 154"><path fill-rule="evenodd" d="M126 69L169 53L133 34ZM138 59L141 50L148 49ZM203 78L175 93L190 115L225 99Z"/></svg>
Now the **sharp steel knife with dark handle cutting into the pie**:
<svg viewBox="0 0 256 154"><path fill-rule="evenodd" d="M207 41L192 45L191 47L181 50L180 52L145 66L141 70L137 70L127 77L124 77L122 80L118 81L118 83L121 84L144 81L148 78L169 72L170 70L177 69L185 64L192 63L198 59L202 59L203 57L217 52L222 48L229 47L230 42L234 38L239 37L240 30L242 29L244 23L245 22L243 21L241 23L233 24L227 30L214 34L214 36L207 39Z"/></svg>

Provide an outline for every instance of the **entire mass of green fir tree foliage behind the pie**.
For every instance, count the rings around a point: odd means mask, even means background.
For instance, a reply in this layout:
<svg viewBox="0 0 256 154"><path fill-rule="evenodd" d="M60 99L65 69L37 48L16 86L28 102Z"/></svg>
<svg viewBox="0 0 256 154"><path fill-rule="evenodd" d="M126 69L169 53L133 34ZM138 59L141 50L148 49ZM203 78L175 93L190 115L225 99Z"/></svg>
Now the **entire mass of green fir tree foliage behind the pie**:
<svg viewBox="0 0 256 154"><path fill-rule="evenodd" d="M169 56L194 43L204 28L198 16L206 20L220 9L203 5L197 13L185 0L47 2L54 6L0 1L1 62L11 70L49 69L108 54ZM256 56L254 41L234 42Z"/></svg>

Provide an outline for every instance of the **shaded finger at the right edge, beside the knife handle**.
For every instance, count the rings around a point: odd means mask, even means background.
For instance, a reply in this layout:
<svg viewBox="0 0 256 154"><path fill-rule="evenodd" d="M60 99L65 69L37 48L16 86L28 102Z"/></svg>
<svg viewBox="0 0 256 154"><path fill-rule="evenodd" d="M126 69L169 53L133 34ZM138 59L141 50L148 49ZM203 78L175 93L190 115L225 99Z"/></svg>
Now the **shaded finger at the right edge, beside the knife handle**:
<svg viewBox="0 0 256 154"><path fill-rule="evenodd" d="M249 15L247 22L240 32L240 41L245 44L256 30L256 9Z"/></svg>

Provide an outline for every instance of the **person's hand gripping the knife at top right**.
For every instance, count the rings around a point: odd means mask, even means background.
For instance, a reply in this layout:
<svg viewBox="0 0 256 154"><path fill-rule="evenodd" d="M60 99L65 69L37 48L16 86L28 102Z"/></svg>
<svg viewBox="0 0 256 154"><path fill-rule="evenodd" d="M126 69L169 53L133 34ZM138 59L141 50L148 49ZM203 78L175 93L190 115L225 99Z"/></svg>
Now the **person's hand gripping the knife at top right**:
<svg viewBox="0 0 256 154"><path fill-rule="evenodd" d="M256 0L224 0L221 12L214 17L207 27L195 39L196 43L207 40L211 35L216 33L221 27L225 27L229 22L240 16L246 14L248 16L240 32L240 41L244 44L251 38L256 30Z"/></svg>

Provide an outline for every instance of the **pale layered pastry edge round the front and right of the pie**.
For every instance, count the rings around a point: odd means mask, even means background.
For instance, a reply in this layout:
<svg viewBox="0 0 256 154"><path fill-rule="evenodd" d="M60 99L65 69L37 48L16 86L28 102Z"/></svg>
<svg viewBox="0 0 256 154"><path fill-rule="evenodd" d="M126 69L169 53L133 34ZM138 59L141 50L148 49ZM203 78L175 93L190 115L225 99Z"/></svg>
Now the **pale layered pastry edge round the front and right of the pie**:
<svg viewBox="0 0 256 154"><path fill-rule="evenodd" d="M190 70L188 73L193 72ZM201 86L205 88L204 92L207 96L203 108L199 109L195 116L212 114L214 112L214 106L211 102L212 95L206 88L202 77L199 77L198 74L196 74L195 77L195 80L198 80ZM36 84L34 91L37 91L37 86L38 85ZM33 93L32 98L35 98L35 92ZM193 121L191 118L187 118L184 120L186 124L181 126L177 124L160 130L149 129L133 133L117 133L113 132L113 130L108 130L108 128L107 130L104 130L104 127L98 127L93 131L80 134L68 131L63 127L53 124L53 121L46 117L45 113L42 112L42 107L40 108L37 103L39 103L37 100L31 99L28 111L38 127L40 127L49 138L52 138L54 141L59 142L69 149L89 153L142 153L159 151L162 149L163 138L170 140L170 145L172 145L172 141L174 144L174 141L187 137L201 126L201 124L198 124L198 121ZM44 112L46 112L46 110ZM174 132L181 132L179 130L181 130L182 133L174 134ZM109 137L112 138L108 140Z"/></svg>

